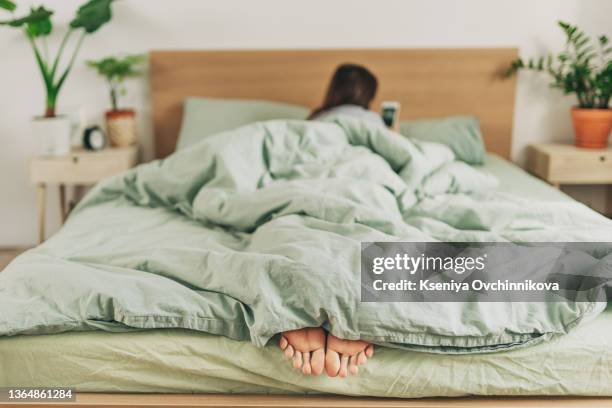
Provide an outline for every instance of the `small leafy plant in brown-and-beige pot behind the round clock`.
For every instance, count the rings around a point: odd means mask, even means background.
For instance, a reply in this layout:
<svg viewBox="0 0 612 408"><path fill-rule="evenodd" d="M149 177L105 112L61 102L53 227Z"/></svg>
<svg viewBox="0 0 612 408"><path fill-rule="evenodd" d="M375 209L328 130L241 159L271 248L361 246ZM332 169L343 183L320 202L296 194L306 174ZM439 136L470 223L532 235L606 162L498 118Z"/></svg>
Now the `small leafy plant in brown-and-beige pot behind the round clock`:
<svg viewBox="0 0 612 408"><path fill-rule="evenodd" d="M136 143L136 113L133 109L119 107L119 96L125 94L125 80L142 75L138 69L145 61L144 55L111 56L98 61L87 61L108 83L111 110L106 112L106 130L113 146L129 146Z"/></svg>

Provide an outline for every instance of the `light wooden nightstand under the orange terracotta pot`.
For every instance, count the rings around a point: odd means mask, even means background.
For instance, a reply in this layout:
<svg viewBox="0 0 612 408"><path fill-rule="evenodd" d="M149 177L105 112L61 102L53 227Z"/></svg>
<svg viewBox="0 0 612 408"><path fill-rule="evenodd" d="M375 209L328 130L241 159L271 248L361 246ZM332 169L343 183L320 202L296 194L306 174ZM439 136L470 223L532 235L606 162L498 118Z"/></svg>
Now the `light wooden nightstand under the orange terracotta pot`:
<svg viewBox="0 0 612 408"><path fill-rule="evenodd" d="M527 151L527 169L557 188L567 184L612 184L612 148L533 144Z"/></svg>

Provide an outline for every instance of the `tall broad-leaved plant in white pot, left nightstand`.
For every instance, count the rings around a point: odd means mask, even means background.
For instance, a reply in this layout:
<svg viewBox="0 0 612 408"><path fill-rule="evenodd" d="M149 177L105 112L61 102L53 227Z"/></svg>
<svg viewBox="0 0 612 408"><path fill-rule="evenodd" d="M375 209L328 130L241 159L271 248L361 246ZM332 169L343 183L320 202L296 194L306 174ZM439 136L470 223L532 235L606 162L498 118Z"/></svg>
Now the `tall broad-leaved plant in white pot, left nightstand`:
<svg viewBox="0 0 612 408"><path fill-rule="evenodd" d="M32 7L29 14L7 21L0 25L23 30L38 65L46 91L45 113L34 118L33 132L38 138L40 153L45 155L64 155L70 151L70 120L57 115L57 99L66 79L74 66L83 41L87 35L96 31L111 19L111 4L114 0L90 0L83 4L70 22L61 43L54 55L48 52L48 37L53 32L53 11L44 6ZM2 7L13 12L15 4L0 0ZM76 37L74 40L73 38ZM71 41L72 40L72 41ZM64 61L64 53L71 48L70 56Z"/></svg>

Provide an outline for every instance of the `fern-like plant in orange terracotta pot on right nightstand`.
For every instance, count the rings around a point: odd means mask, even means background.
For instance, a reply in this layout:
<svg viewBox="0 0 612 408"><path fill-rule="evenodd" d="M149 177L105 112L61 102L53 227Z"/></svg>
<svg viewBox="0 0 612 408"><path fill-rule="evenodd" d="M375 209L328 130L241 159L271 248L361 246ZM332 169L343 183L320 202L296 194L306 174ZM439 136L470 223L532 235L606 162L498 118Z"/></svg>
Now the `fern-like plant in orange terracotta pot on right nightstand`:
<svg viewBox="0 0 612 408"><path fill-rule="evenodd" d="M507 74L521 69L547 72L552 87L578 99L572 108L576 146L604 148L612 130L612 46L605 35L594 44L578 27L562 21L559 26L567 38L563 52L527 62L519 58Z"/></svg>

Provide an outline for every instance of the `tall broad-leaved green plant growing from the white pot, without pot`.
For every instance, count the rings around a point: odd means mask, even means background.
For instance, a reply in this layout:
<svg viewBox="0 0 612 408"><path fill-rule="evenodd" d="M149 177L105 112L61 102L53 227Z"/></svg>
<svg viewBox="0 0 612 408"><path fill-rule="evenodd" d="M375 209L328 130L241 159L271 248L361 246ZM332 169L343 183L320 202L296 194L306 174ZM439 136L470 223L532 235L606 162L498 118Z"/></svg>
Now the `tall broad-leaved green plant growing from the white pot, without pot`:
<svg viewBox="0 0 612 408"><path fill-rule="evenodd" d="M110 21L113 1L89 0L79 7L55 55L49 53L47 44L47 38L53 32L53 11L44 6L32 7L30 13L23 17L0 21L0 25L22 29L34 51L47 94L44 115L46 118L55 117L57 98L74 66L83 40ZM9 11L16 8L11 0L0 0L0 7ZM62 64L64 51L74 35L77 35L77 39L73 44L72 55Z"/></svg>

